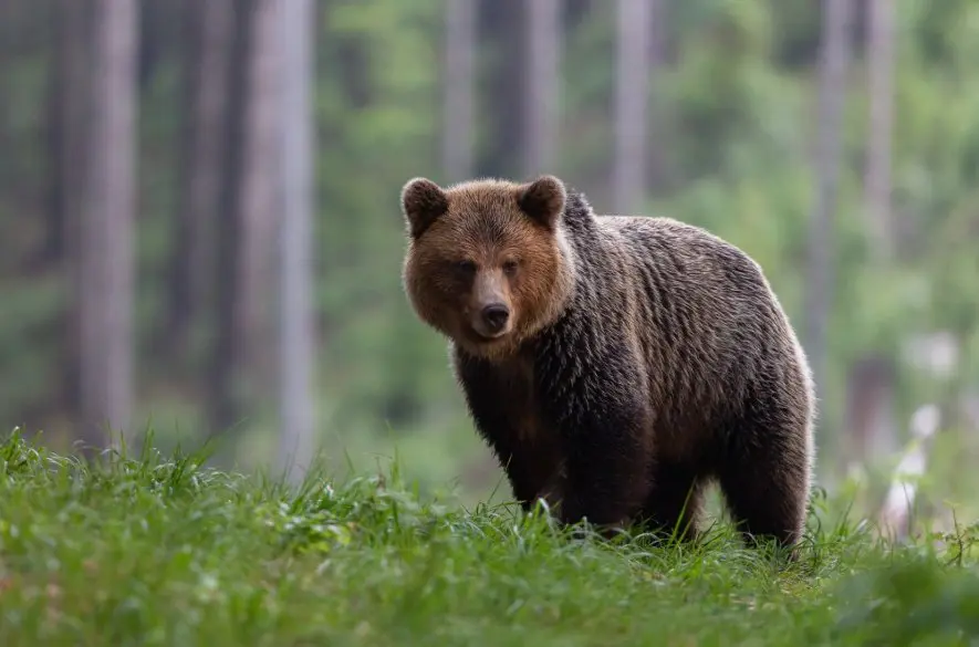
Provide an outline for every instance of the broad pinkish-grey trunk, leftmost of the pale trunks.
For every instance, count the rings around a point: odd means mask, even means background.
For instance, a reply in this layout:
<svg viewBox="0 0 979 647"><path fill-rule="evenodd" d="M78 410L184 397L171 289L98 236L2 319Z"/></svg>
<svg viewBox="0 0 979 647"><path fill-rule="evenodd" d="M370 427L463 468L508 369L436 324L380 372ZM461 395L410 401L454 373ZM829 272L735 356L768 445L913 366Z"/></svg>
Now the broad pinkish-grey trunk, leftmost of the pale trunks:
<svg viewBox="0 0 979 647"><path fill-rule="evenodd" d="M87 178L81 223L81 436L125 432L133 406L137 7L95 0Z"/></svg>

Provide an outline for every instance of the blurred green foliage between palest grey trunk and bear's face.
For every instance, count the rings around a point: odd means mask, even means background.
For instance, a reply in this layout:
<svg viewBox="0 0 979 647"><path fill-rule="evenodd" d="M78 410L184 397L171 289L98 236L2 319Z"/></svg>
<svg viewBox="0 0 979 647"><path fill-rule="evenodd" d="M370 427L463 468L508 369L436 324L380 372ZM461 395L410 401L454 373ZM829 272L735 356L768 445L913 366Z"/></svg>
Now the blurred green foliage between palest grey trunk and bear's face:
<svg viewBox="0 0 979 647"><path fill-rule="evenodd" d="M402 185L435 175L439 2L330 3L319 52L319 301L326 393L343 428L414 422L448 392L444 342L402 293ZM346 71L345 73L337 73ZM442 400L444 401L444 400Z"/></svg>

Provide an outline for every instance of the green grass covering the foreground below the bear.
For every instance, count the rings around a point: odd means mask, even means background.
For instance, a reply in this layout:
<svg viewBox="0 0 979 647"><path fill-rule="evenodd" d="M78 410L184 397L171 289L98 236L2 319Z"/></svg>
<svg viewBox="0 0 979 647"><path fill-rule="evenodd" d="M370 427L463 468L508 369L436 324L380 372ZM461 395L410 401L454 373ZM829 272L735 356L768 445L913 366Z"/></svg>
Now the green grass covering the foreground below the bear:
<svg viewBox="0 0 979 647"><path fill-rule="evenodd" d="M979 572L814 511L799 563L420 500L397 474L299 491L201 457L87 467L0 446L0 645L969 645Z"/></svg>

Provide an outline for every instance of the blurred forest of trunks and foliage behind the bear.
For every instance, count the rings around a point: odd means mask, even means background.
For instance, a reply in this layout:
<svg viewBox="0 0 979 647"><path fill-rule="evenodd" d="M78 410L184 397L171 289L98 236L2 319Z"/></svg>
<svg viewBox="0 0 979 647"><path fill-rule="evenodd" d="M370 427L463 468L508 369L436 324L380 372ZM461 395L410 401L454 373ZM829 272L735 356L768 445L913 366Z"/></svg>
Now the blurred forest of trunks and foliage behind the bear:
<svg viewBox="0 0 979 647"><path fill-rule="evenodd" d="M972 0L4 0L0 420L485 497L398 191L538 173L761 263L821 484L876 509L927 450L923 513L976 516Z"/></svg>

